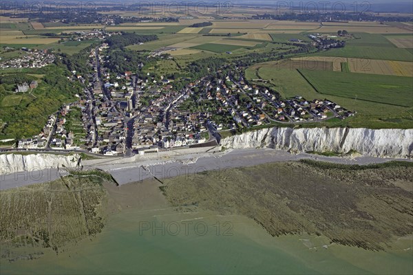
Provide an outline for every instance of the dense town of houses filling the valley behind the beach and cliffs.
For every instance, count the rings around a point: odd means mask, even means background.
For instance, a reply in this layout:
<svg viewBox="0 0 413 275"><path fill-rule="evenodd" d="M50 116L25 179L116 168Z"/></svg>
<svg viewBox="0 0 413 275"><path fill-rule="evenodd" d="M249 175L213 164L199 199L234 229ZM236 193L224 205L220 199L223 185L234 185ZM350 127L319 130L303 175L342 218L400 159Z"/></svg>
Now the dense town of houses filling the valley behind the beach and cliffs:
<svg viewBox="0 0 413 275"><path fill-rule="evenodd" d="M280 100L275 91L249 85L231 73L224 79L205 76L177 91L171 85L174 80L164 76L159 81L149 73L111 73L105 66L108 50L104 42L90 50L88 62L93 73L83 76L73 71L71 77L81 83L87 79L83 95L76 95L76 102L50 115L41 133L20 140L18 148L108 156L145 154L216 144L220 133L248 131L260 125L354 115L329 100L310 101L301 96Z"/></svg>

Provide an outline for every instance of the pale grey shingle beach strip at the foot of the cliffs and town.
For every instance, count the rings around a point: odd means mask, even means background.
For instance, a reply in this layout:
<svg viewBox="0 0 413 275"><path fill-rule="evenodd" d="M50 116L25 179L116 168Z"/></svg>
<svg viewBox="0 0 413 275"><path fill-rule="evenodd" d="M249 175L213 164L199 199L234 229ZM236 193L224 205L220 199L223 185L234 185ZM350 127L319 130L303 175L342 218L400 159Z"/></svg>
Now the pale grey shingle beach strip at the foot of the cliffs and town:
<svg viewBox="0 0 413 275"><path fill-rule="evenodd" d="M291 162L301 159L346 165L381 164L392 161L413 162L413 159L370 157L366 155L359 157L327 157L310 153L292 154L272 148L242 148L227 149L224 152L198 152L147 159L136 159L134 157L110 160L86 159L82 163L86 170L98 168L109 172L118 181L118 184L124 185L153 177L162 181L162 179L182 175L189 176L209 170L225 170L226 168L248 167L271 162ZM41 184L59 179L59 177L65 175L67 173L64 170L57 168L0 175L0 190Z"/></svg>

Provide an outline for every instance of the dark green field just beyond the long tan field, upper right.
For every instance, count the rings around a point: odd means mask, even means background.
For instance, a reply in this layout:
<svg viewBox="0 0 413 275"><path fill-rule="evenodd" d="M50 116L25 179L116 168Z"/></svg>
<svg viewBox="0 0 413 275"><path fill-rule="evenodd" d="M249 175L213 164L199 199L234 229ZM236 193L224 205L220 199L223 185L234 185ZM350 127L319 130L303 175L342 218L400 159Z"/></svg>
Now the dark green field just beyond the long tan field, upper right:
<svg viewBox="0 0 413 275"><path fill-rule="evenodd" d="M346 47L341 47L339 49L331 49L326 52L317 52L317 54L314 55L381 59L390 61L413 61L413 54L411 51L397 47L366 47L346 45Z"/></svg>

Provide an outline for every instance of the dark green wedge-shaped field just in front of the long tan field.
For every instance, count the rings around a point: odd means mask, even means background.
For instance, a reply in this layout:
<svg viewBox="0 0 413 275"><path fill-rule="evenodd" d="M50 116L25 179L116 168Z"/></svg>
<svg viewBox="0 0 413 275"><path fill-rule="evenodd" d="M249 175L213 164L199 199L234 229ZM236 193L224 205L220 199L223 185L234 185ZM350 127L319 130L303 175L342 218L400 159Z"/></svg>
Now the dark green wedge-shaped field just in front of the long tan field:
<svg viewBox="0 0 413 275"><path fill-rule="evenodd" d="M378 76L300 70L320 94L412 107L413 81L403 76Z"/></svg>

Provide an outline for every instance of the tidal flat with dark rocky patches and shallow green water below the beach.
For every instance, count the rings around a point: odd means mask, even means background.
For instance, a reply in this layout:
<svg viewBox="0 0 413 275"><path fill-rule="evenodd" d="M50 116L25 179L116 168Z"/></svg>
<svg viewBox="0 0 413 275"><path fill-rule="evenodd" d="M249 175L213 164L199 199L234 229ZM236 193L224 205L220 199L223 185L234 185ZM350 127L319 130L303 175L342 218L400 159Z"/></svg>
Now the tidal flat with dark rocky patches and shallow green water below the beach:
<svg viewBox="0 0 413 275"><path fill-rule="evenodd" d="M301 161L1 191L0 271L412 274L412 175Z"/></svg>

